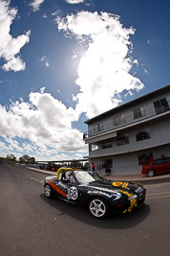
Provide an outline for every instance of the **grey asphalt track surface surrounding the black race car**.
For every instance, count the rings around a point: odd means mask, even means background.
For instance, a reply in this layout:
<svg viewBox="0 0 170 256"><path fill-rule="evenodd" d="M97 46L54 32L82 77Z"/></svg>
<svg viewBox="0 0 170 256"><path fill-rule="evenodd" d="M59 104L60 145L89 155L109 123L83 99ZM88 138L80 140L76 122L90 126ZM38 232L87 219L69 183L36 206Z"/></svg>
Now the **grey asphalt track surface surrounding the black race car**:
<svg viewBox="0 0 170 256"><path fill-rule="evenodd" d="M146 185L145 203L131 214L96 220L84 208L45 197L42 182L52 174L0 165L0 256L169 256L169 175L114 176L159 184Z"/></svg>

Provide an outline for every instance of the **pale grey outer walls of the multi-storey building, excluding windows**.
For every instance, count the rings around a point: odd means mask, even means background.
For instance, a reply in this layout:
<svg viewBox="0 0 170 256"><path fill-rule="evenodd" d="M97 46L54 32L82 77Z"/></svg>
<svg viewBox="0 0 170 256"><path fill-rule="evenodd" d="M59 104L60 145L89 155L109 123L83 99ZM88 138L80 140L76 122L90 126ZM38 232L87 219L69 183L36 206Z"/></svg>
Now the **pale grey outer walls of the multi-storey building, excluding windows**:
<svg viewBox="0 0 170 256"><path fill-rule="evenodd" d="M97 134L103 133L99 130L94 132L94 126L102 123L104 131L116 130L116 137L113 136L108 141L112 142L112 148L102 149L102 144L107 142L98 140L95 145L98 147L97 151L92 151L89 147L90 164L95 162L96 172L104 175L105 168L102 168L102 163L106 159L112 159L111 174L140 174L141 165L138 163L138 155L153 154L154 158L160 157L161 153L170 156L170 110L156 114L154 102L166 98L170 105L170 87L165 92L159 94L150 94L150 97L138 99L134 103L126 104L117 107L109 113L105 113L101 118L96 118L88 124L89 135L96 137ZM135 119L132 116L132 110L138 107L144 107L146 115ZM114 125L114 117L125 114L126 123L120 126ZM137 141L136 135L139 131L148 129L150 138ZM117 137L119 135L127 134L129 137L129 144L117 146Z"/></svg>

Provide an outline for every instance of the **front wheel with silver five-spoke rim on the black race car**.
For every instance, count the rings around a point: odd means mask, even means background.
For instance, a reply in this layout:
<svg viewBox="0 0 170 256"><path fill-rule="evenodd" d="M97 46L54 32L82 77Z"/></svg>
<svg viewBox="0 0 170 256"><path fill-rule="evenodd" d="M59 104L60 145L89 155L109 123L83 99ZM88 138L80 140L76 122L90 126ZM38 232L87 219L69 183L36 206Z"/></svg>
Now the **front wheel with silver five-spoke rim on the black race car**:
<svg viewBox="0 0 170 256"><path fill-rule="evenodd" d="M109 205L103 198L92 198L89 211L96 219L103 219L109 214Z"/></svg>

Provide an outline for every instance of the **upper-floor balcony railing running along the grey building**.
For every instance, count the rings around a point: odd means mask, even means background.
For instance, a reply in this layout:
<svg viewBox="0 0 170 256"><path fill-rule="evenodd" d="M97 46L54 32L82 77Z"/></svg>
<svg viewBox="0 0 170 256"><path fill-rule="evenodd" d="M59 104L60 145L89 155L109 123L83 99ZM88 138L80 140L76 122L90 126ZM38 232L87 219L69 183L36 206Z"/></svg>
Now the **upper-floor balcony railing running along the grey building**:
<svg viewBox="0 0 170 256"><path fill-rule="evenodd" d="M170 111L169 105L170 105L170 102L168 102L168 107L166 107L166 109L161 109L161 110L159 109L159 112L158 112L158 109L156 111L155 107L153 106L153 107L144 109L138 113L136 112L136 113L132 113L128 116L124 116L121 119L118 119L117 121L116 120L114 121L114 117L113 117L113 122L105 124L102 127L100 126L98 128L98 130L96 128L93 128L93 129L89 130L89 132L85 132L83 134L83 140L86 140L89 137L96 136L98 134L101 134L101 133L104 133L107 131L111 131L111 130L113 131L117 128L127 127L131 124L133 125L140 121L150 119L154 116L159 116L162 113L167 112L167 111L169 112ZM101 122L102 122L102 120L101 120Z"/></svg>

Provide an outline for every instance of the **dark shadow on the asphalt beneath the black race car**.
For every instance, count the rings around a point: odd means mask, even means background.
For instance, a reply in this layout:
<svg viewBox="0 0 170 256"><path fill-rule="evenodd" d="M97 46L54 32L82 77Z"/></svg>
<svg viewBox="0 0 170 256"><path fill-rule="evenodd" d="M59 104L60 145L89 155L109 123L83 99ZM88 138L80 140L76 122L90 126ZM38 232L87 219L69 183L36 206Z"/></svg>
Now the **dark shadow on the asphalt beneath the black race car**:
<svg viewBox="0 0 170 256"><path fill-rule="evenodd" d="M129 214L111 214L104 220L97 220L86 208L76 206L59 198L46 198L44 194L41 194L40 198L44 200L45 203L48 203L50 207L53 207L60 212L56 215L56 218L60 219L60 221L64 221L63 217L67 215L76 221L103 229L132 228L144 221L149 216L151 211L148 204L143 204Z"/></svg>

